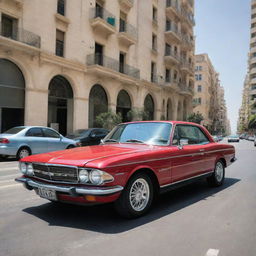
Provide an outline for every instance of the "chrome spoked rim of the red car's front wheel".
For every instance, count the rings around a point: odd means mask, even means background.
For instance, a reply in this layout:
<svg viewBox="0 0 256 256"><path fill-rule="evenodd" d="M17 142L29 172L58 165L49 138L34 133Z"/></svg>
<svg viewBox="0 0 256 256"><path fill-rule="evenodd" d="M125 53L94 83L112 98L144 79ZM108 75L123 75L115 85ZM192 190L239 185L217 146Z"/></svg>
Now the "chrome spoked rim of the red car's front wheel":
<svg viewBox="0 0 256 256"><path fill-rule="evenodd" d="M143 211L149 201L150 190L146 180L140 178L133 182L130 189L130 205L133 210L139 212Z"/></svg>

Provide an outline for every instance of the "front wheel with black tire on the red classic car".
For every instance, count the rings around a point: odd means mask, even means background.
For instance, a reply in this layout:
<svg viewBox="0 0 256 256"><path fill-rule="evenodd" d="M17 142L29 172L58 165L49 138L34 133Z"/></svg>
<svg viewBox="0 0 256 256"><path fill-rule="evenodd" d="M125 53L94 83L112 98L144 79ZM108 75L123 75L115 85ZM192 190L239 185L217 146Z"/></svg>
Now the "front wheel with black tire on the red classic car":
<svg viewBox="0 0 256 256"><path fill-rule="evenodd" d="M139 188L136 188L135 184L144 184L145 190L139 191ZM137 193L135 189L137 189ZM133 196L131 195L132 191ZM145 197L145 195L147 197L146 199L143 198L143 196ZM133 197L133 202L131 202L131 197ZM115 209L121 216L125 218L137 218L145 214L150 209L153 197L154 187L152 180L145 173L137 173L134 176L132 176L130 180L127 182L122 194L115 202ZM144 200L144 202L141 205L141 209L135 209L135 204L138 203L137 200L141 202Z"/></svg>

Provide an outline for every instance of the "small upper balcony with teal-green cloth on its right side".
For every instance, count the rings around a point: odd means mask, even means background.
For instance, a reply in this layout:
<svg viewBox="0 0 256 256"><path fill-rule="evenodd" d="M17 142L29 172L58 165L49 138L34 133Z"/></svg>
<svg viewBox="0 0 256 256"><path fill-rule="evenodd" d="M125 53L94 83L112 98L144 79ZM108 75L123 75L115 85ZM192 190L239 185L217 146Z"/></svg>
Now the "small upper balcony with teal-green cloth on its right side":
<svg viewBox="0 0 256 256"><path fill-rule="evenodd" d="M95 33L108 37L116 31L116 18L104 8L90 9L90 23Z"/></svg>

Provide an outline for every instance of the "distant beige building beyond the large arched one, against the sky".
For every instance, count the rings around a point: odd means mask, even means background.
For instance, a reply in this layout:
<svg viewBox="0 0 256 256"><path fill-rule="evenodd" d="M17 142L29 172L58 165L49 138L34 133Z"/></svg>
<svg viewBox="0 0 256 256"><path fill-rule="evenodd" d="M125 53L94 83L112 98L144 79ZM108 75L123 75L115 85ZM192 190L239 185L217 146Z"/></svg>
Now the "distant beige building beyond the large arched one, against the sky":
<svg viewBox="0 0 256 256"><path fill-rule="evenodd" d="M195 56L195 87L193 112L201 113L201 124L212 134L225 134L230 128L224 88L220 86L219 74L215 71L208 54Z"/></svg>

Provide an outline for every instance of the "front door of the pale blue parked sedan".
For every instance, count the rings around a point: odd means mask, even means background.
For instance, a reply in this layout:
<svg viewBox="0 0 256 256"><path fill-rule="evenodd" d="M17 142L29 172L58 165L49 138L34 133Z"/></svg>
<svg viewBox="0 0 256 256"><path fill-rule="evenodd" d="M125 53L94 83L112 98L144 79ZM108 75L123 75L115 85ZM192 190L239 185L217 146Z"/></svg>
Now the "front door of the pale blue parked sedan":
<svg viewBox="0 0 256 256"><path fill-rule="evenodd" d="M43 128L43 133L48 141L48 152L66 149L66 144L62 142L59 133L50 128Z"/></svg>

